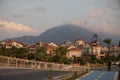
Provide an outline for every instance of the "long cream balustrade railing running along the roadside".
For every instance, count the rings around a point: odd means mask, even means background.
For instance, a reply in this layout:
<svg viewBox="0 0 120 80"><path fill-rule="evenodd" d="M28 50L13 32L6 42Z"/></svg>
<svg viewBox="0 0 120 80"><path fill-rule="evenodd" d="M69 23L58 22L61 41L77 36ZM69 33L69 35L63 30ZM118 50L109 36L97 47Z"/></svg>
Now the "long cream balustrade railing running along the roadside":
<svg viewBox="0 0 120 80"><path fill-rule="evenodd" d="M16 67L28 69L43 69L43 70L61 70L61 71L89 71L86 66L72 66L65 64L32 61L27 59L19 59L13 57L0 56L0 67Z"/></svg>

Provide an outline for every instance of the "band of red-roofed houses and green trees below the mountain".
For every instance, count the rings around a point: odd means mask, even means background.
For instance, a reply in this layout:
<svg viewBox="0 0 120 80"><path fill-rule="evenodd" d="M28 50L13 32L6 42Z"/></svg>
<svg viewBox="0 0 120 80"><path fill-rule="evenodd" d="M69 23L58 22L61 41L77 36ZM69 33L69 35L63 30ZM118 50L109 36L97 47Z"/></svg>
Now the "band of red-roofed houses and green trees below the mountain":
<svg viewBox="0 0 120 80"><path fill-rule="evenodd" d="M106 42L105 42L106 41ZM120 60L120 45L111 46L111 40L103 41L107 46L102 46L98 35L93 35L91 42L82 39L65 41L58 45L54 42L37 42L32 44L20 43L15 40L0 42L0 55L21 59L55 62L60 64L106 64L108 61Z"/></svg>

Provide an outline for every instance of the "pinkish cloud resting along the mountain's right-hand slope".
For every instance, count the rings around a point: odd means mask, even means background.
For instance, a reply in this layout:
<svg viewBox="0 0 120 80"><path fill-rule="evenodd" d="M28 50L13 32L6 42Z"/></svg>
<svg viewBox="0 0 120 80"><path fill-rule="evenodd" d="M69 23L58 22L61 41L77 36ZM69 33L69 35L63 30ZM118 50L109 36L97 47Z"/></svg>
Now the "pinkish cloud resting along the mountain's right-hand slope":
<svg viewBox="0 0 120 80"><path fill-rule="evenodd" d="M110 23L107 20L102 20L101 25L94 25L90 22L84 22L79 19L75 19L70 22L72 25L76 25L79 27L83 27L89 31L98 33L98 32L103 32L107 34L113 34L113 35L120 35L120 31L117 27L110 27Z"/></svg>

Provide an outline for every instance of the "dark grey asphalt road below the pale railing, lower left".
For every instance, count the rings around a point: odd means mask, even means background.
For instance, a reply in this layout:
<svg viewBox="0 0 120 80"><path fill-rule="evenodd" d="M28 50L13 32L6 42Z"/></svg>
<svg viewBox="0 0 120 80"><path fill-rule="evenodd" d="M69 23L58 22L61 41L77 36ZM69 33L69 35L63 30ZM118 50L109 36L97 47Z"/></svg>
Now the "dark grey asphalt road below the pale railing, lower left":
<svg viewBox="0 0 120 80"><path fill-rule="evenodd" d="M49 70L5 68L0 69L0 80L46 80L49 73ZM60 76L70 72L53 71L53 73L54 76Z"/></svg>

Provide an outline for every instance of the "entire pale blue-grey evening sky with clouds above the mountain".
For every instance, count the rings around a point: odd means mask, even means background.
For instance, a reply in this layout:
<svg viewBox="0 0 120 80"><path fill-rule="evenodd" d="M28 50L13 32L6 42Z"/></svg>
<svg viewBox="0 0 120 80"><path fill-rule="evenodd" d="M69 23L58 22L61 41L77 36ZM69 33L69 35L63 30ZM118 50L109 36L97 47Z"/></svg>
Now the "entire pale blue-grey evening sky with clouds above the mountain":
<svg viewBox="0 0 120 80"><path fill-rule="evenodd" d="M0 40L64 24L120 35L120 0L0 0Z"/></svg>

